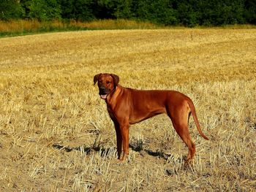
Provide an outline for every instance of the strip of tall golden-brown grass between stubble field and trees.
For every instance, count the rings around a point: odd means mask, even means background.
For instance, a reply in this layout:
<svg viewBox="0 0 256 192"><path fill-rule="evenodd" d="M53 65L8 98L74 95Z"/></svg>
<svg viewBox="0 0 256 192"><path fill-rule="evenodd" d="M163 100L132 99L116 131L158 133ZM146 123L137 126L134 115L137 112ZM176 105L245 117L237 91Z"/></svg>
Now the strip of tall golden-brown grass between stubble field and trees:
<svg viewBox="0 0 256 192"><path fill-rule="evenodd" d="M61 20L0 20L0 37L11 37L25 34L37 34L52 31L78 31L89 29L156 29L167 28L153 23L139 22L135 20L94 20L90 22Z"/></svg>

